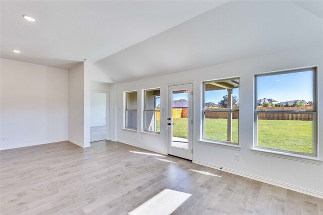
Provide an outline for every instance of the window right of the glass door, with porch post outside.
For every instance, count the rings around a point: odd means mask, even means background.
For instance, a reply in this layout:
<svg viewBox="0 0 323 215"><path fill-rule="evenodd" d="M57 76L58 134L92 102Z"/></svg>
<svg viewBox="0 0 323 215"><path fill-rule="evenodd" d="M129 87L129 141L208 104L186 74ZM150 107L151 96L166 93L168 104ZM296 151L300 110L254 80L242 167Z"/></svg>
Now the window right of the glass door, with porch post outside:
<svg viewBox="0 0 323 215"><path fill-rule="evenodd" d="M203 139L238 145L239 78L203 83Z"/></svg>

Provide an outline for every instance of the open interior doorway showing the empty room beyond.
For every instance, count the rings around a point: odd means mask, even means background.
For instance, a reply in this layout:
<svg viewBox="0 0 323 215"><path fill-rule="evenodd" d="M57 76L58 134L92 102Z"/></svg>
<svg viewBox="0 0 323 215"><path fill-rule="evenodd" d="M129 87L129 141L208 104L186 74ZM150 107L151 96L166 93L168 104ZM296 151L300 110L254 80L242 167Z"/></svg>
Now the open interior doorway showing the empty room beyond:
<svg viewBox="0 0 323 215"><path fill-rule="evenodd" d="M90 98L90 142L107 139L107 98L106 92L91 92Z"/></svg>

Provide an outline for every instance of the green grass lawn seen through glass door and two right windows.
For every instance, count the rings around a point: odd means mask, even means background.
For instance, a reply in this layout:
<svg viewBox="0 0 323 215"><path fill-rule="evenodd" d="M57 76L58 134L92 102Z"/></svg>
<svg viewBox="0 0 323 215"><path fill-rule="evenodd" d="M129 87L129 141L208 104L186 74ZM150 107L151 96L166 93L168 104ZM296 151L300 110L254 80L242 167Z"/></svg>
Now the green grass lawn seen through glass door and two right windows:
<svg viewBox="0 0 323 215"><path fill-rule="evenodd" d="M187 138L187 118L177 118L173 122L173 135ZM312 121L258 120L258 146L313 153L312 132ZM206 119L205 138L226 141L227 119ZM232 121L232 139L238 141L237 119Z"/></svg>

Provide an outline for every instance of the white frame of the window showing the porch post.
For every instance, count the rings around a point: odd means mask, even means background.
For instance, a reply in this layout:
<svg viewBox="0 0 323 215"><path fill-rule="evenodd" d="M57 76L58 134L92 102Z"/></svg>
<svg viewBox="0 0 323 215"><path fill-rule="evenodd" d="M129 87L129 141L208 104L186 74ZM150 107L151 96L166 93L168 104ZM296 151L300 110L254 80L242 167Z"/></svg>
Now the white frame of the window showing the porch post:
<svg viewBox="0 0 323 215"><path fill-rule="evenodd" d="M211 81L204 81L203 84L203 103L202 103L202 134L201 134L201 142L206 142L209 144L220 144L220 145L224 145L224 146L232 146L232 147L238 147L240 148L240 144L239 144L239 118L240 118L240 114L239 114L239 110L240 110L240 102L238 102L239 104L239 109L238 110L234 110L234 109L219 109L219 110L205 110L205 84L208 83L213 83L213 82L223 82L223 81L232 81L232 80L239 80L239 96L238 99L240 99L240 78L239 77L234 77L234 78L228 78L228 79L216 79L216 80L211 80ZM237 142L231 142L231 141L223 141L223 140L214 140L214 139L207 139L205 138L205 113L206 112L225 112L225 113L234 113L237 112L238 113L238 141ZM231 130L232 132L232 130Z"/></svg>

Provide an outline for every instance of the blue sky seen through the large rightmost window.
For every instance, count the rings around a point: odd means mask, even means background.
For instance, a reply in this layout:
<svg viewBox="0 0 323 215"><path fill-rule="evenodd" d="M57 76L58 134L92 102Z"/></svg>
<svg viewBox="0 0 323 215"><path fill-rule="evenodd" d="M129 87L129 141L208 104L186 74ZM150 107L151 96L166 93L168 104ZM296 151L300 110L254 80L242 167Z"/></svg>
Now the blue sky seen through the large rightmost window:
<svg viewBox="0 0 323 215"><path fill-rule="evenodd" d="M275 76L258 77L258 99L275 99L278 102L313 101L313 73L302 71Z"/></svg>

